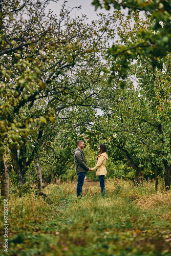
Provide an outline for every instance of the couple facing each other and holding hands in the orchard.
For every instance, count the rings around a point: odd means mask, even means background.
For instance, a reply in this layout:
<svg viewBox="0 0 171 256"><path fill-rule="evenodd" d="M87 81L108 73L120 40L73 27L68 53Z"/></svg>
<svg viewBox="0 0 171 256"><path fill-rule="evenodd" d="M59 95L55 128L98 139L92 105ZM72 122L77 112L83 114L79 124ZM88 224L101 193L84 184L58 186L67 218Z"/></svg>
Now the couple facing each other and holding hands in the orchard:
<svg viewBox="0 0 171 256"><path fill-rule="evenodd" d="M103 196L105 193L104 176L107 174L105 165L106 160L108 159L108 155L106 154L106 146L104 144L99 144L99 154L96 158L96 165L93 168L89 168L87 166L86 158L83 153L83 140L78 140L77 146L78 147L73 151L75 170L77 174L77 197L81 196L82 194L82 186L84 183L84 178L86 177L86 172L88 172L88 170L96 170L96 176L99 177L101 195Z"/></svg>

